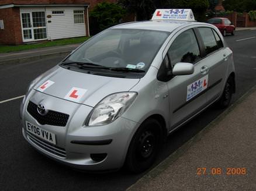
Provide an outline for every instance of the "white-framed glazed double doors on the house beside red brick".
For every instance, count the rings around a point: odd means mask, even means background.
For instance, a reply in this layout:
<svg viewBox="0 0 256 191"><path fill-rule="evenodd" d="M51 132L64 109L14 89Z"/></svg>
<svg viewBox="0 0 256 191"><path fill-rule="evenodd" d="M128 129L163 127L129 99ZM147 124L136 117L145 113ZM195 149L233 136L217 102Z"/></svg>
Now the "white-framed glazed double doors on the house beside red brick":
<svg viewBox="0 0 256 191"><path fill-rule="evenodd" d="M23 42L47 39L44 11L26 10L20 13Z"/></svg>

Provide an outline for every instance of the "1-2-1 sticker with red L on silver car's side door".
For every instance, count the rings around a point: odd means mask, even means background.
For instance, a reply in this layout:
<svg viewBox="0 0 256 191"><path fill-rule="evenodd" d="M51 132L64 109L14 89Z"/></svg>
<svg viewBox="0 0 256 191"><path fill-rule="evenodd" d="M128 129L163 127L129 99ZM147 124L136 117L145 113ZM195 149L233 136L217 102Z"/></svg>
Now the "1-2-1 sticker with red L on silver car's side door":
<svg viewBox="0 0 256 191"><path fill-rule="evenodd" d="M208 75L203 76L199 80L196 80L192 84L189 84L186 91L186 101L191 100L193 97L207 89Z"/></svg>

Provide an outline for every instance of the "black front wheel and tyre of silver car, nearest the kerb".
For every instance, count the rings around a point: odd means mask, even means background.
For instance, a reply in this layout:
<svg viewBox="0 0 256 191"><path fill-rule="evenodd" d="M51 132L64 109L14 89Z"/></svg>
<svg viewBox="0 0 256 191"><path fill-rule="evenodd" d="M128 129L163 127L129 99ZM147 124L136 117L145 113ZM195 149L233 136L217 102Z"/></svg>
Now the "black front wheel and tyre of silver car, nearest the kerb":
<svg viewBox="0 0 256 191"><path fill-rule="evenodd" d="M126 168L140 173L154 163L161 145L161 124L155 119L143 122L134 134L126 155Z"/></svg>

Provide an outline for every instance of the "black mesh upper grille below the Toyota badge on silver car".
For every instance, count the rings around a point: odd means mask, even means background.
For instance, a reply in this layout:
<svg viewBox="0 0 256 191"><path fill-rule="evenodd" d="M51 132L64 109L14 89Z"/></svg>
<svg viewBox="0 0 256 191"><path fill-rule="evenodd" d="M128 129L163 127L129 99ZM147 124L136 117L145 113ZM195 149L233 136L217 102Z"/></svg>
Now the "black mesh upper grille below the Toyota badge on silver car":
<svg viewBox="0 0 256 191"><path fill-rule="evenodd" d="M41 115L37 112L37 105L32 101L29 101L29 104L27 105L27 112L29 112L29 114L41 125L66 126L68 118L70 117L67 114L51 110L49 110L46 115Z"/></svg>

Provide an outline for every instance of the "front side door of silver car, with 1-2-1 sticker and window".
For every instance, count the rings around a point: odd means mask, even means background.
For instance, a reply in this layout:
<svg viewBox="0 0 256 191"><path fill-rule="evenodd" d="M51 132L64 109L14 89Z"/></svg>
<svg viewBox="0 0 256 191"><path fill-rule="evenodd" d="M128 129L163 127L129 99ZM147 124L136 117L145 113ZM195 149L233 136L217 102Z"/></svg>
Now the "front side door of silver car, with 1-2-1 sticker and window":
<svg viewBox="0 0 256 191"><path fill-rule="evenodd" d="M178 62L189 62L195 65L195 72L192 75L173 76L167 82L170 126L173 129L205 107L204 90L207 87L208 76L207 73L202 73L205 64L200 61L202 54L193 29L179 34L171 44L167 55L172 68Z"/></svg>

